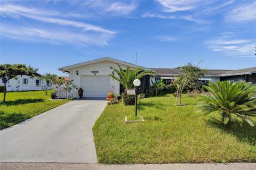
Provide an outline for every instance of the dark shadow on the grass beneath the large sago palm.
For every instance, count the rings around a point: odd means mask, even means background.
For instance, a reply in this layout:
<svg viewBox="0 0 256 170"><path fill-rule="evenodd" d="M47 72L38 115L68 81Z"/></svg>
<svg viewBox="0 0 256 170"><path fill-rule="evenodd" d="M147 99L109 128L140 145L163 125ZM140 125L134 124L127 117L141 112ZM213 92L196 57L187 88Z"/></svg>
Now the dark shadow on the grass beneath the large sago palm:
<svg viewBox="0 0 256 170"><path fill-rule="evenodd" d="M238 122L234 122L228 127L213 118L212 120L207 120L207 124L214 128L221 129L223 132L235 135L241 142L256 146L256 126L252 127L245 121L241 122L242 126Z"/></svg>

